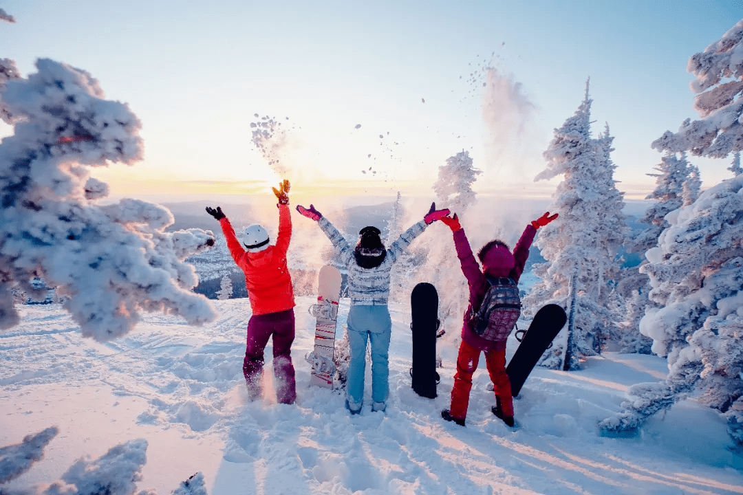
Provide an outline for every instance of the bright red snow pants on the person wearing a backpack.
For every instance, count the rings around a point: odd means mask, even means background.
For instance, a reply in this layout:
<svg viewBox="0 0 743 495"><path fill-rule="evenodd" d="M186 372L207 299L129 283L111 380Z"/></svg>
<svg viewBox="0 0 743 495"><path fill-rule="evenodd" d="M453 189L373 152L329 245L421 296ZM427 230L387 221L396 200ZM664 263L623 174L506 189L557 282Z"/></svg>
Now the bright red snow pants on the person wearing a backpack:
<svg viewBox="0 0 743 495"><path fill-rule="evenodd" d="M470 390L472 376L480 361L481 350L472 347L464 340L459 345L457 356L457 373L454 376L452 387L452 406L450 413L456 419L467 418L467 406L470 404ZM511 396L510 381L506 374L506 351L490 351L485 353L485 364L490 380L493 381L496 396L501 399L503 416L513 417L513 397Z"/></svg>

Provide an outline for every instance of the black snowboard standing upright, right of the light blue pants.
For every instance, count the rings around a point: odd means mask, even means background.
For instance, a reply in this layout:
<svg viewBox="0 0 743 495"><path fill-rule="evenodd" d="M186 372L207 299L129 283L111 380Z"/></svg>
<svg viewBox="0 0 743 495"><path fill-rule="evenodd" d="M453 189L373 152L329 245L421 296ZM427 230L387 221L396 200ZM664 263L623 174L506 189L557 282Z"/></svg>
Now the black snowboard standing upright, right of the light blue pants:
<svg viewBox="0 0 743 495"><path fill-rule="evenodd" d="M418 283L410 295L413 335L413 390L419 396L436 396L436 331L438 330L438 293L432 284Z"/></svg>

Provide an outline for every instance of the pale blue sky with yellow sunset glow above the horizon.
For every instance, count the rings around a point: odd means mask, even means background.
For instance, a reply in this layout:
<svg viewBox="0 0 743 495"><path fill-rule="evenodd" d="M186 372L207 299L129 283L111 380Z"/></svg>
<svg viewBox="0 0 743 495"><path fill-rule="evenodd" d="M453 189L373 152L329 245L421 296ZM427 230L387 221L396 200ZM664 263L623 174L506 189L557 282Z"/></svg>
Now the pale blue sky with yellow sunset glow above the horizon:
<svg viewBox="0 0 743 495"><path fill-rule="evenodd" d="M85 69L143 121L144 162L96 173L114 194L183 197L265 190L281 174L305 192L431 194L438 166L462 150L485 172L483 193L548 195L559 179L533 177L589 76L594 132L609 124L620 189L642 197L661 157L650 142L696 117L689 57L743 17L741 0L0 0L0 8L16 18L0 23L0 56L24 74L38 57ZM496 111L495 125L483 114L484 67L512 91L496 95L511 114ZM282 173L250 141L254 114L282 122ZM705 186L730 175L729 160L691 161Z"/></svg>

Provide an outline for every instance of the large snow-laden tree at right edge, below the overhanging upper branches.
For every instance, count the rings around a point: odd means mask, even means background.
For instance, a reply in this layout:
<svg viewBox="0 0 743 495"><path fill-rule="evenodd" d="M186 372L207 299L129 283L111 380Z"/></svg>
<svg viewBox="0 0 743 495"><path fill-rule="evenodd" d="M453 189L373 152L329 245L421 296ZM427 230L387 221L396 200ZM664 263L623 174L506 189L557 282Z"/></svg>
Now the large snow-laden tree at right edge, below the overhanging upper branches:
<svg viewBox="0 0 743 495"><path fill-rule="evenodd" d="M658 247L649 250L650 307L640 331L666 356L659 383L629 390L623 410L602 426L629 430L697 391L727 415L743 445L743 177L725 180L666 217Z"/></svg>

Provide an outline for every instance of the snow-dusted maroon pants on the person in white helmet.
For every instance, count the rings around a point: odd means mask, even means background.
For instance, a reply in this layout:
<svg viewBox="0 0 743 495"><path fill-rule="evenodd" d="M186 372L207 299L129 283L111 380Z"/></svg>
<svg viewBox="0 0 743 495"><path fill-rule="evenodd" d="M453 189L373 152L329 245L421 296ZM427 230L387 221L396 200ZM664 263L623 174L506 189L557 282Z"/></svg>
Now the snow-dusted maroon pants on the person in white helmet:
<svg viewBox="0 0 743 495"><path fill-rule="evenodd" d="M250 400L258 399L262 394L263 350L272 336L276 400L282 404L292 404L296 399L294 365L291 363L291 344L294 341L293 309L253 315L247 322L247 343L242 362L247 393Z"/></svg>

